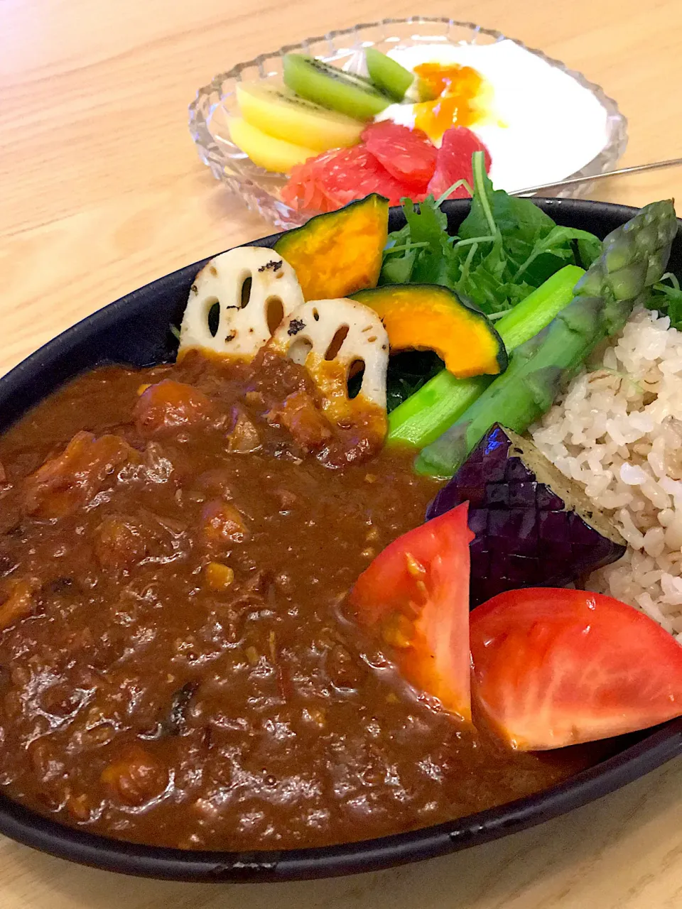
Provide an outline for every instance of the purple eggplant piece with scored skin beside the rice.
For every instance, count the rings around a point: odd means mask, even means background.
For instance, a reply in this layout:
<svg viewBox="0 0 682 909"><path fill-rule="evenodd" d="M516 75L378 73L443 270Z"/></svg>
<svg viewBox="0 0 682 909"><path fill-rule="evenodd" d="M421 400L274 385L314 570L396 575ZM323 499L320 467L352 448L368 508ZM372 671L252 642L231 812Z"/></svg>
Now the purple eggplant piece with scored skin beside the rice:
<svg viewBox="0 0 682 909"><path fill-rule="evenodd" d="M426 509L469 503L470 608L517 587L561 587L615 562L625 540L532 442L496 424Z"/></svg>

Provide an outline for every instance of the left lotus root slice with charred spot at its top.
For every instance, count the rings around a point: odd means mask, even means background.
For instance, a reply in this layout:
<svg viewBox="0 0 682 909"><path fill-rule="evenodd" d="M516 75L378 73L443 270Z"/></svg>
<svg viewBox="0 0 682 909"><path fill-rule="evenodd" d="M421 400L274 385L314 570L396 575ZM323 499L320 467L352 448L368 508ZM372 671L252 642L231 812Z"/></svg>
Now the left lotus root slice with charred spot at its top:
<svg viewBox="0 0 682 909"><path fill-rule="evenodd" d="M178 359L198 347L250 360L302 303L296 272L271 249L240 246L216 255L189 292ZM214 334L209 314L216 304L220 312Z"/></svg>

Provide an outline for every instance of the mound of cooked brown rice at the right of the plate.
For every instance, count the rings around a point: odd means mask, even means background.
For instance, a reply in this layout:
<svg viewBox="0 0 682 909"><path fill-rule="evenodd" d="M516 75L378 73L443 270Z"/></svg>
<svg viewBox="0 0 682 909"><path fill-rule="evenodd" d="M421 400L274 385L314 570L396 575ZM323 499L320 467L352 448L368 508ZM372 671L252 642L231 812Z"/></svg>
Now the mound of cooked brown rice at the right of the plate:
<svg viewBox="0 0 682 909"><path fill-rule="evenodd" d="M682 332L637 309L531 435L627 540L590 589L637 606L682 642Z"/></svg>

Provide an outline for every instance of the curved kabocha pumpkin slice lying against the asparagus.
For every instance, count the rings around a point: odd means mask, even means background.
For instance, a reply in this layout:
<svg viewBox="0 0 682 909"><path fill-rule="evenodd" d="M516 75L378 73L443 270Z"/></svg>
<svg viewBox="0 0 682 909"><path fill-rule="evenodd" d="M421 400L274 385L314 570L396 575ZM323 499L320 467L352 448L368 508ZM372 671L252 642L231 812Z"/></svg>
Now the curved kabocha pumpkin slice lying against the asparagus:
<svg viewBox="0 0 682 909"><path fill-rule="evenodd" d="M353 295L386 326L392 353L433 350L458 379L497 375L506 348L493 324L472 304L440 285L384 285Z"/></svg>

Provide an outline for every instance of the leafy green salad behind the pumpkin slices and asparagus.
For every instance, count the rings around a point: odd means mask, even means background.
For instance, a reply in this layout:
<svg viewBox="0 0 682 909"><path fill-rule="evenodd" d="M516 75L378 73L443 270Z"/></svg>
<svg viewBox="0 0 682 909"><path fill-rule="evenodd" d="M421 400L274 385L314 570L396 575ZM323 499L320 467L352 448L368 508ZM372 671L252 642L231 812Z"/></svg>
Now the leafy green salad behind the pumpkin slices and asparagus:
<svg viewBox="0 0 682 909"><path fill-rule="evenodd" d="M596 236L556 225L530 199L493 189L482 152L472 157L472 174L473 191L459 180L438 200L431 195L419 205L403 200L406 224L389 235L380 284L445 285L496 320L564 265L587 268L600 255ZM441 203L459 186L472 196L471 209L451 236ZM662 292L671 293L672 287ZM682 319L682 291L677 294ZM389 410L440 365L436 355L391 357Z"/></svg>

